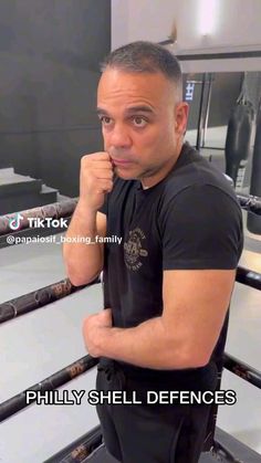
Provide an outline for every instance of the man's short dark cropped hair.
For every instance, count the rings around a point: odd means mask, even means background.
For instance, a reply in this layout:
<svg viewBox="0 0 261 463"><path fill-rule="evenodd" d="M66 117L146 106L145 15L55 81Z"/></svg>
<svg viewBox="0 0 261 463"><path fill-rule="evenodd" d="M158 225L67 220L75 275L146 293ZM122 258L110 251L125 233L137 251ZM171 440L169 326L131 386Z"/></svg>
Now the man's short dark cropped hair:
<svg viewBox="0 0 261 463"><path fill-rule="evenodd" d="M101 64L101 71L116 67L129 73L157 73L174 82L182 95L182 76L176 56L164 46L145 41L132 42L111 52Z"/></svg>

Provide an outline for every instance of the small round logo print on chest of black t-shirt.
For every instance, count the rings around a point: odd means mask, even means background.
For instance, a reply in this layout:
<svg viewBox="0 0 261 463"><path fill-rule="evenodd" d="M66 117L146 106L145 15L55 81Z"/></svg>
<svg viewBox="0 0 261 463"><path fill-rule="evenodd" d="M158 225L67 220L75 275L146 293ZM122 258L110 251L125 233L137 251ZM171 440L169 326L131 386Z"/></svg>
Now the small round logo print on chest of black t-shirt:
<svg viewBox="0 0 261 463"><path fill-rule="evenodd" d="M137 271L143 265L140 257L148 255L148 252L143 249L143 241L146 236L139 228L129 231L128 234L128 240L124 243L125 263L129 270Z"/></svg>

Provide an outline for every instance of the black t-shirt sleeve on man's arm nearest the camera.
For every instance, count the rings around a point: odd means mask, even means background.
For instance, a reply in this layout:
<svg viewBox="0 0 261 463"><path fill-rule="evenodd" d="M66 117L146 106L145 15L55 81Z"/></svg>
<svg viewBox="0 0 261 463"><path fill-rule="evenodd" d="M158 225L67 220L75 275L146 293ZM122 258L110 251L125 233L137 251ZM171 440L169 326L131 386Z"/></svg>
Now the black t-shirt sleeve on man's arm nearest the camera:
<svg viewBox="0 0 261 463"><path fill-rule="evenodd" d="M213 186L192 186L161 211L164 270L236 269L242 252L237 200Z"/></svg>

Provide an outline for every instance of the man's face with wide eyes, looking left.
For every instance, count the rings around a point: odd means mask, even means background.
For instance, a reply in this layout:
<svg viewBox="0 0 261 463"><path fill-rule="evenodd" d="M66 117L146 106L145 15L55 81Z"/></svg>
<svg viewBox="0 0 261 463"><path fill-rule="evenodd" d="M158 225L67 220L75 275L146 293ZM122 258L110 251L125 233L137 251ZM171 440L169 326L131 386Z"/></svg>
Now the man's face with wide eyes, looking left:
<svg viewBox="0 0 261 463"><path fill-rule="evenodd" d="M108 67L98 84L97 112L117 176L146 187L160 181L180 152L187 109L176 103L175 85L164 74Z"/></svg>

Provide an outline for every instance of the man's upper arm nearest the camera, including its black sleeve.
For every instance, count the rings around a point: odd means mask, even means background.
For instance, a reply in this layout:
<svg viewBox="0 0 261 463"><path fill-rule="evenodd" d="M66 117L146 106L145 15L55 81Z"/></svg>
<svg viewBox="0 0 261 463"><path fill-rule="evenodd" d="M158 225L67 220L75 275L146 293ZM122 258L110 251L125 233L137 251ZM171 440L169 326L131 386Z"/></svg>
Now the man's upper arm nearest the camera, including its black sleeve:
<svg viewBox="0 0 261 463"><path fill-rule="evenodd" d="M192 208L191 208L192 204ZM208 361L229 307L241 253L241 211L212 187L168 204L163 230L163 322L195 364Z"/></svg>

